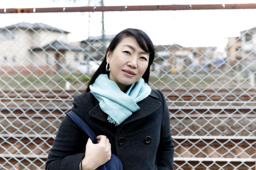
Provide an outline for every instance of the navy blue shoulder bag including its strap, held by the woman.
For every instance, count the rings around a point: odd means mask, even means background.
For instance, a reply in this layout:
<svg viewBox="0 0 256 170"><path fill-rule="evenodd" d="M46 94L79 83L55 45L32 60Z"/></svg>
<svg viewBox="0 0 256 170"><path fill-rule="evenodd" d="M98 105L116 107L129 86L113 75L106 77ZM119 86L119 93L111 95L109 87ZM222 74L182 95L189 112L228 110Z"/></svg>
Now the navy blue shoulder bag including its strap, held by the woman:
<svg viewBox="0 0 256 170"><path fill-rule="evenodd" d="M94 144L98 143L91 128L74 111L70 111L67 115L89 136ZM112 153L110 160L96 170L123 170L123 165L120 159Z"/></svg>

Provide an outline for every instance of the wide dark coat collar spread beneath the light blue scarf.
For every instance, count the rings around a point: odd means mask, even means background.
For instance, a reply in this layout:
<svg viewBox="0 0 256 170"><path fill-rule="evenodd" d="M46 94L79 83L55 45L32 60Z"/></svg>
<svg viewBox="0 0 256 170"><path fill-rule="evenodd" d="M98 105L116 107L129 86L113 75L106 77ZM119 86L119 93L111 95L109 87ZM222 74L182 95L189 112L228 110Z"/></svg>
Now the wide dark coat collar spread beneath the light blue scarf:
<svg viewBox="0 0 256 170"><path fill-rule="evenodd" d="M132 113L132 115L120 125L127 124L137 119L141 119L153 113L155 110L157 110L157 108L160 107L160 105L162 105L161 102L156 100L158 98L159 97L157 96L157 94L155 94L154 91L151 91L148 97L137 103L140 109ZM96 119L99 119L100 121L108 122L108 115L101 110L101 108L99 107L99 101L97 100L96 106L92 110L90 110L89 115Z"/></svg>

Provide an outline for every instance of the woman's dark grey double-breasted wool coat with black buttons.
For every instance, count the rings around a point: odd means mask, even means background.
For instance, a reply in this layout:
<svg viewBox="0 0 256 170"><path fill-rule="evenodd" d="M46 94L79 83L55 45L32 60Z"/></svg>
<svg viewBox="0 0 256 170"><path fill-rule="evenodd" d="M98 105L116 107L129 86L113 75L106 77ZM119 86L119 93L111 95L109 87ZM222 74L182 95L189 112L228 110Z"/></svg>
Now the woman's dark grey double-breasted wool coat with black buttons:
<svg viewBox="0 0 256 170"><path fill-rule="evenodd" d="M73 104L71 110L96 136L107 136L112 153L119 157L124 170L173 170L170 116L159 90L152 90L138 102L140 109L118 126L107 121L108 115L90 92L75 96ZM46 170L78 170L87 139L69 116L64 117L48 155Z"/></svg>

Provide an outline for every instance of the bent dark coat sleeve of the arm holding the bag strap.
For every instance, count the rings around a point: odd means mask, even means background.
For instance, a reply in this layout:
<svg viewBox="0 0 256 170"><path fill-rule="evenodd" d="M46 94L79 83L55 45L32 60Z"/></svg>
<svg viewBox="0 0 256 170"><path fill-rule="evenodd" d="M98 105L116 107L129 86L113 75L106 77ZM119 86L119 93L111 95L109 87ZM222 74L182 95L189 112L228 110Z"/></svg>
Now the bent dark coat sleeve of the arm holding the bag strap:
<svg viewBox="0 0 256 170"><path fill-rule="evenodd" d="M82 113L79 96L73 101L72 111ZM46 170L78 170L85 153L85 141L88 137L69 116L60 124L54 144L46 161Z"/></svg>

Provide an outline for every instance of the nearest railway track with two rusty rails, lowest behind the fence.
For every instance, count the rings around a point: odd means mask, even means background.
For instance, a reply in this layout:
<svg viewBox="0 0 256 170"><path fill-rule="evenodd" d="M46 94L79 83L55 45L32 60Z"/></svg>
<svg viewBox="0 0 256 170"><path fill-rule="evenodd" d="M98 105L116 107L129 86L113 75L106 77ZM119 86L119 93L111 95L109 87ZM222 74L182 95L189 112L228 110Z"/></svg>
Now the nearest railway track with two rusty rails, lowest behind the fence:
<svg viewBox="0 0 256 170"><path fill-rule="evenodd" d="M36 134L28 134L26 136L24 136L24 134L0 135L2 136L2 139L0 139L2 143L0 152L5 153L2 155L5 159L10 159L10 163L12 164L17 160L35 161L35 164L41 168L44 168L47 153L53 145L55 138L55 135L52 134L40 134L40 137ZM174 155L174 165L176 165L176 168L177 166L182 166L185 162L190 166L202 163L208 165L210 162L223 164L223 162L225 162L226 164L229 163L233 165L243 163L250 167L255 163L255 160L251 159L249 156L255 151L255 148L254 150L250 149L251 144L255 145L256 138L254 137L173 136L173 139L174 145L176 146L176 153ZM196 144L196 147L193 146L193 144ZM3 150L3 147L6 149ZM27 166L25 163L24 165ZM240 167L240 169L248 169L246 165L243 165L244 168ZM21 165L19 166L20 169L22 169ZM214 169L214 167L215 166L212 166L212 169ZM33 169L33 166L28 168ZM188 168L184 167L184 169ZM198 167L196 169L204 168Z"/></svg>

